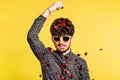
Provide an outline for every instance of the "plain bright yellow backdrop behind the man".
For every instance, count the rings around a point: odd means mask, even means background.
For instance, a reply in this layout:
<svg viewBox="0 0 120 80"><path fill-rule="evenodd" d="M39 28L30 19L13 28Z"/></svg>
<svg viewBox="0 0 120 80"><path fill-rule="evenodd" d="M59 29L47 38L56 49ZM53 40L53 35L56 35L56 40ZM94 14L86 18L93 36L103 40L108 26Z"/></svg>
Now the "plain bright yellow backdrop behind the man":
<svg viewBox="0 0 120 80"><path fill-rule="evenodd" d="M42 80L26 35L34 19L54 1L0 0L0 80ZM120 1L64 0L63 4L63 10L48 17L39 35L45 46L54 48L52 21L67 17L76 29L72 51L86 59L91 80L120 80Z"/></svg>

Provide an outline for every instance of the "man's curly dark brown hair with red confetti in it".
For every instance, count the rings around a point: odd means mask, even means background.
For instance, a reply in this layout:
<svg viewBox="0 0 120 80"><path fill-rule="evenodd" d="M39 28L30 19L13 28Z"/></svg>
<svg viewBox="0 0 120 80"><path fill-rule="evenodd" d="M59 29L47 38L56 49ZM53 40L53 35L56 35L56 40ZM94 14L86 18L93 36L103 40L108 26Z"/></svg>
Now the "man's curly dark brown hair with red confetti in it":
<svg viewBox="0 0 120 80"><path fill-rule="evenodd" d="M74 25L68 18L57 18L50 26L52 36L70 35L74 34Z"/></svg>

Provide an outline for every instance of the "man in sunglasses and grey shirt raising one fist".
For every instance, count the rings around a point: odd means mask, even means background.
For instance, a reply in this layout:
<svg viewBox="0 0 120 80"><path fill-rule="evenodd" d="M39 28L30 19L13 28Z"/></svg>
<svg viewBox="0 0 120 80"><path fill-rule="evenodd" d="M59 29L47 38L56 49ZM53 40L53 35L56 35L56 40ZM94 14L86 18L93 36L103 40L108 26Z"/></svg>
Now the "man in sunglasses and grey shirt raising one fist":
<svg viewBox="0 0 120 80"><path fill-rule="evenodd" d="M43 80L90 80L87 64L70 49L73 40L74 25L67 18L56 19L51 27L52 41L56 50L45 48L38 34L50 13L63 8L62 2L55 2L33 23L27 40L41 62Z"/></svg>

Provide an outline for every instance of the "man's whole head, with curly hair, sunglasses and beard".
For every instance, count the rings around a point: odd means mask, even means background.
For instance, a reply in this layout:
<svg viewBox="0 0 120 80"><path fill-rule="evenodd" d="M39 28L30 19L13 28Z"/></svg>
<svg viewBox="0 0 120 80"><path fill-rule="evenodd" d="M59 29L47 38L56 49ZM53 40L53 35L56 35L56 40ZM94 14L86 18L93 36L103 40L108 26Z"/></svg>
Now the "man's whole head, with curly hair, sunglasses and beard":
<svg viewBox="0 0 120 80"><path fill-rule="evenodd" d="M67 18L57 18L51 24L50 32L56 49L62 53L70 49L74 25Z"/></svg>

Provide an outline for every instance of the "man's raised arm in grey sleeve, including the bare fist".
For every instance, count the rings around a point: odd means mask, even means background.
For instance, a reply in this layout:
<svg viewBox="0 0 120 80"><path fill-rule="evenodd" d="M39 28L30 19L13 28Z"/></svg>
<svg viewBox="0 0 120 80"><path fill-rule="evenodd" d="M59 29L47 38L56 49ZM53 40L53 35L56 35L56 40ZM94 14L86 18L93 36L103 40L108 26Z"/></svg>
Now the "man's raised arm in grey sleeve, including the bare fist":
<svg viewBox="0 0 120 80"><path fill-rule="evenodd" d="M49 8L47 8L43 12L42 15L40 15L38 18L35 19L32 27L28 31L27 41L28 41L33 53L38 58L38 60L40 60L40 58L41 58L40 54L45 53L45 50L46 50L44 44L40 41L38 34L39 34L42 26L44 25L48 15L50 15L50 13L52 13L56 10L59 10L61 8L63 8L62 2L53 3Z"/></svg>

